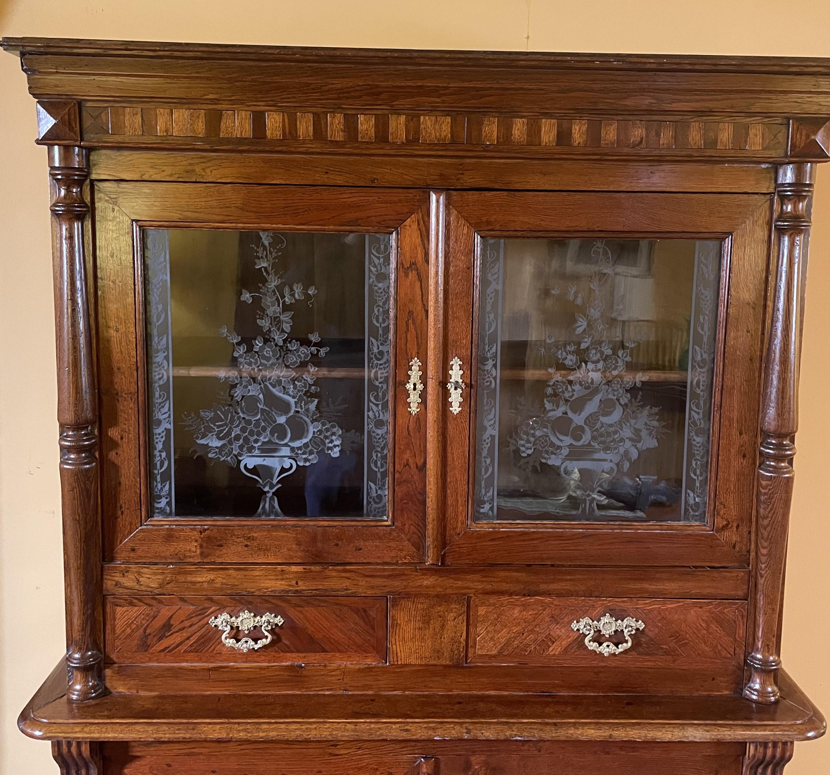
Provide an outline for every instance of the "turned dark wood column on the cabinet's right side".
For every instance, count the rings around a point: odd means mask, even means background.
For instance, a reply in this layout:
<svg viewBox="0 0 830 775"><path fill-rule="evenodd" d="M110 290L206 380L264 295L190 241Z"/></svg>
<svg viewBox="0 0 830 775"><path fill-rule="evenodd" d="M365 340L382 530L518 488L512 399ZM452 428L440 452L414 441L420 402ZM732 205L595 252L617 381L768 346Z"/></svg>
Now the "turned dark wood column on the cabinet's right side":
<svg viewBox="0 0 830 775"><path fill-rule="evenodd" d="M793 497L793 437L798 430L798 368L814 175L815 164L786 164L778 168L775 188L777 266L764 359L753 559L754 631L744 690L747 699L764 704L779 699L779 621Z"/></svg>

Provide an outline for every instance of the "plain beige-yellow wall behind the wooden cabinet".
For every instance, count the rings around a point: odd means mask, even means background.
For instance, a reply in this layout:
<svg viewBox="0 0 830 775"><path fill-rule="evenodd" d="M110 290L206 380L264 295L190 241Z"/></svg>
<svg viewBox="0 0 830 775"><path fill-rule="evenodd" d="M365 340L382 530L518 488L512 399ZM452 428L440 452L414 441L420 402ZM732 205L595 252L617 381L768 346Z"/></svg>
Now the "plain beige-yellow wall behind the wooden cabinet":
<svg viewBox="0 0 830 775"><path fill-rule="evenodd" d="M578 12L584 9L583 12ZM0 0L3 35L315 46L830 56L828 0ZM16 57L0 55L0 772L56 773L15 729L63 649L46 150ZM830 168L818 176L784 665L830 711ZM788 775L830 765L796 748Z"/></svg>

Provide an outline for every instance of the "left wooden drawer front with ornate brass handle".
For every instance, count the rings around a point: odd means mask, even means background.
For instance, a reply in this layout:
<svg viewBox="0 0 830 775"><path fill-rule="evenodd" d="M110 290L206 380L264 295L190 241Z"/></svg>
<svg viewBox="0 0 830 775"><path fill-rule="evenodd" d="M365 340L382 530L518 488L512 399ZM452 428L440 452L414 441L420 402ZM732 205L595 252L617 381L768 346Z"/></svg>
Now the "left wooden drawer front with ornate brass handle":
<svg viewBox="0 0 830 775"><path fill-rule="evenodd" d="M106 657L118 663L331 663L386 661L385 597L105 598ZM271 614L256 621L217 617ZM211 620L214 620L212 625ZM244 627L249 626L246 633ZM270 628L269 628L270 627ZM267 631L266 631L267 630ZM228 642L223 642L223 635ZM268 635L271 641L267 641ZM251 642L243 643L244 638ZM232 645L237 642L237 647ZM256 646L256 647L255 647Z"/></svg>

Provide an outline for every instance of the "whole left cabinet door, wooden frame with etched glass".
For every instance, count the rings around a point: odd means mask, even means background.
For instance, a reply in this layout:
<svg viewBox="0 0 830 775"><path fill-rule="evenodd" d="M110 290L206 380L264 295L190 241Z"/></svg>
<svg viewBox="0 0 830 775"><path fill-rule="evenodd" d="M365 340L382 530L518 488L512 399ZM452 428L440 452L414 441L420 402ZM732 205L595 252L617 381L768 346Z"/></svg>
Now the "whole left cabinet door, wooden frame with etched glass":
<svg viewBox="0 0 830 775"><path fill-rule="evenodd" d="M428 194L96 194L110 555L422 561Z"/></svg>

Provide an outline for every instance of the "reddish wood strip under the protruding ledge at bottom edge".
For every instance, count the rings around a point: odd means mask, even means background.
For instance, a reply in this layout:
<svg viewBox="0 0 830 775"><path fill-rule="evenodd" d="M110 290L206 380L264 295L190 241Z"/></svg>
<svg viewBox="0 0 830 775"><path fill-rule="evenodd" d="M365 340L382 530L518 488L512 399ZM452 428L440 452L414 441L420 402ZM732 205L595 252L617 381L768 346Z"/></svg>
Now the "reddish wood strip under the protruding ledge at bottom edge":
<svg viewBox="0 0 830 775"><path fill-rule="evenodd" d="M745 743L105 743L104 775L740 775Z"/></svg>

